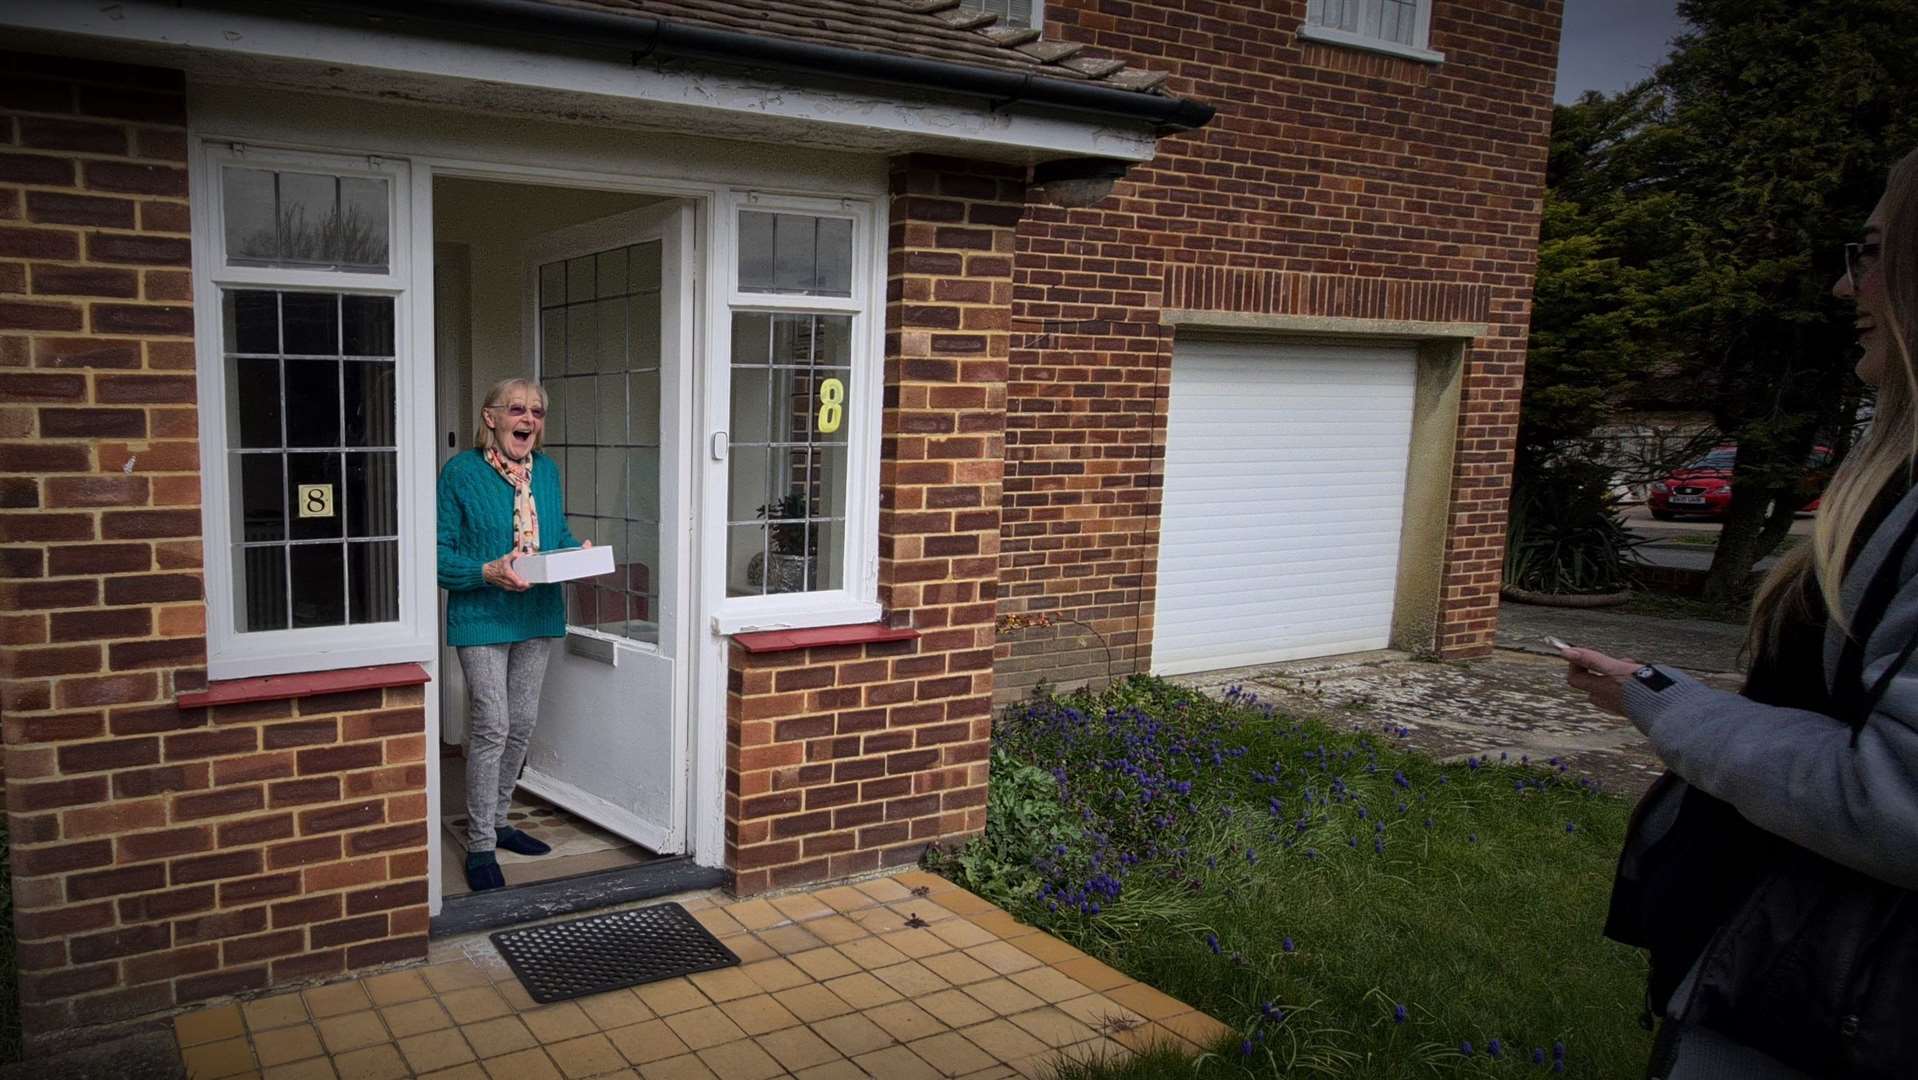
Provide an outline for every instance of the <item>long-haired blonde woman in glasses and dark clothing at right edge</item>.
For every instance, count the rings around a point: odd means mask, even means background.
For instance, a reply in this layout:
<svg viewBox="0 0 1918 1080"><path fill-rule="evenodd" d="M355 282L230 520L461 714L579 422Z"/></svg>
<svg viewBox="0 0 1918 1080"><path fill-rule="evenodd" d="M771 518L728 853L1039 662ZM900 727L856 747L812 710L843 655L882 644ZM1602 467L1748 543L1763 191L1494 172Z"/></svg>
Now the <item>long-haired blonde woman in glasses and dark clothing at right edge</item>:
<svg viewBox="0 0 1918 1080"><path fill-rule="evenodd" d="M1565 648L1571 685L1671 769L1632 815L1605 925L1651 951L1651 1076L1918 1070L1918 153L1832 293L1857 309L1876 412L1813 543L1753 600L1743 691Z"/></svg>

